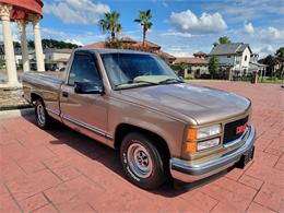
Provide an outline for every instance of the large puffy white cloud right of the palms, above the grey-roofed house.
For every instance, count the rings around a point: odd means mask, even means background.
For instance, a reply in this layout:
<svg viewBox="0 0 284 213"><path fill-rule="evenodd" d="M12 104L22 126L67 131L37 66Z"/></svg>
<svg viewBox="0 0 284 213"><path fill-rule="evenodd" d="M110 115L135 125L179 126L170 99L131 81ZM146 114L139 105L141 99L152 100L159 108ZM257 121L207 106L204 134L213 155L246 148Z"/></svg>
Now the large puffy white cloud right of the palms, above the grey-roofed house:
<svg viewBox="0 0 284 213"><path fill-rule="evenodd" d="M227 28L226 22L218 12L213 14L204 12L200 17L190 10L171 12L169 23L178 31L191 34L218 33Z"/></svg>

